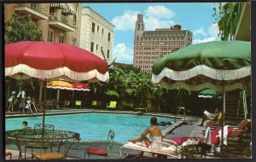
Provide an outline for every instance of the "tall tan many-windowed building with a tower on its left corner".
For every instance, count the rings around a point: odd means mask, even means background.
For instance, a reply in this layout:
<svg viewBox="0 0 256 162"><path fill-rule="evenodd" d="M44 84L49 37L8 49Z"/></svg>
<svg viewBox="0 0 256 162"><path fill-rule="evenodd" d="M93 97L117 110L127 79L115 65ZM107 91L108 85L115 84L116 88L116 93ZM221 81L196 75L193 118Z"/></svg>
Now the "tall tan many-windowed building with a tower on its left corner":
<svg viewBox="0 0 256 162"><path fill-rule="evenodd" d="M154 62L164 55L192 43L192 32L180 25L144 31L143 14L137 14L134 38L133 66L143 72L151 72Z"/></svg>

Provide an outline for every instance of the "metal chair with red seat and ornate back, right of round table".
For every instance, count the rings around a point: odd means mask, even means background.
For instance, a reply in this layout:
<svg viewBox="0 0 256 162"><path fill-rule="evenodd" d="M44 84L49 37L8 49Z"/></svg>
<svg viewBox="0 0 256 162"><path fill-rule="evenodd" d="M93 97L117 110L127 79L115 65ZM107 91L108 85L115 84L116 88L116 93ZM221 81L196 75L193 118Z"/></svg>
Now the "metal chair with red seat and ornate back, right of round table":
<svg viewBox="0 0 256 162"><path fill-rule="evenodd" d="M114 131L109 130L106 148L86 148L84 151L84 159L86 154L88 156L88 159L91 154L104 156L106 159L106 157L110 156L111 154L112 147L113 147L113 138L114 138Z"/></svg>

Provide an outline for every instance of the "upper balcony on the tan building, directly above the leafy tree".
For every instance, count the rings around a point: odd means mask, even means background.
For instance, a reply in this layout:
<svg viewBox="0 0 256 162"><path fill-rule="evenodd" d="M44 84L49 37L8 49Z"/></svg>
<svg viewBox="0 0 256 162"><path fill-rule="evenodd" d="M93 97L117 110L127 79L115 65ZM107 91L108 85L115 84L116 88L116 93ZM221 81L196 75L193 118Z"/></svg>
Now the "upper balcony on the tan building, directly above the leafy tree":
<svg viewBox="0 0 256 162"><path fill-rule="evenodd" d="M48 16L40 10L37 3L17 3L15 11L30 14L36 20L48 20Z"/></svg>

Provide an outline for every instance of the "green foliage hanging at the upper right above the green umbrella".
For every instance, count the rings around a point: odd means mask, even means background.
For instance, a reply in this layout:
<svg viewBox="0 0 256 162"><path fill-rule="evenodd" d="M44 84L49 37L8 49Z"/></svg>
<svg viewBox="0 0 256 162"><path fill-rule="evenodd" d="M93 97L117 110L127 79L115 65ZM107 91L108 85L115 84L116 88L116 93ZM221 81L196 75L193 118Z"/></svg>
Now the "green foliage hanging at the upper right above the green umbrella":
<svg viewBox="0 0 256 162"><path fill-rule="evenodd" d="M233 40L240 20L241 9L243 3L218 3L218 14L217 9L214 7L212 14L218 20L218 28L221 40Z"/></svg>

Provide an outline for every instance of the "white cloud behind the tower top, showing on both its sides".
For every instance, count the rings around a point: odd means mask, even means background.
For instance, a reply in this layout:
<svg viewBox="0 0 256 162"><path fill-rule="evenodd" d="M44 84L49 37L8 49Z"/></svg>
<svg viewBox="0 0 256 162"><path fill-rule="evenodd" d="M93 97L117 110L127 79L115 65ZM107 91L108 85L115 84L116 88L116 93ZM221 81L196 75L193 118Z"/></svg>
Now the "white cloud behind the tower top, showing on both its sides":
<svg viewBox="0 0 256 162"><path fill-rule="evenodd" d="M171 27L175 24L172 17L176 14L172 9L159 5L148 6L144 13L136 10L125 10L124 14L115 16L111 22L115 26L115 30L123 32L134 31L137 14L143 14L145 30Z"/></svg>

